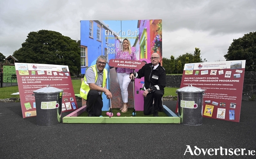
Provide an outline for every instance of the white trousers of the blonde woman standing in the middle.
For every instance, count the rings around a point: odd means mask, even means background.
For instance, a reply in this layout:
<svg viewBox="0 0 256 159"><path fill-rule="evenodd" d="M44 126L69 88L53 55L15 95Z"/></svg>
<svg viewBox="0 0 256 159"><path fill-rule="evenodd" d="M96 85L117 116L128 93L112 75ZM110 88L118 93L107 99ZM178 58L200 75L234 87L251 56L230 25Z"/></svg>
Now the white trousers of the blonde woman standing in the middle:
<svg viewBox="0 0 256 159"><path fill-rule="evenodd" d="M131 82L127 73L117 73L117 80L121 89L121 95L124 103L128 103L128 85Z"/></svg>

